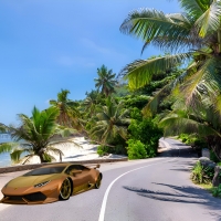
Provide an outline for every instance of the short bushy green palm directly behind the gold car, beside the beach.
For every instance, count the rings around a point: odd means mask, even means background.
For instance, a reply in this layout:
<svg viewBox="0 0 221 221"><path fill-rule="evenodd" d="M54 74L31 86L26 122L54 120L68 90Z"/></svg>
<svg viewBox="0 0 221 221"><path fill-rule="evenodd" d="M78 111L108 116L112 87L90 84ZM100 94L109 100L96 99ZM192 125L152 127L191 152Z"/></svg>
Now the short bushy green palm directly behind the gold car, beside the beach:
<svg viewBox="0 0 221 221"><path fill-rule="evenodd" d="M59 115L60 112L56 107L50 107L42 112L34 107L32 117L19 114L21 126L8 127L15 143L1 144L0 154L12 151L11 159L13 161L20 160L22 154L28 154L23 164L33 156L39 156L41 162L50 161L54 159L51 152L60 155L60 160L62 160L63 152L54 147L59 141L53 141L53 136L64 136L67 130L59 127L55 123Z"/></svg>

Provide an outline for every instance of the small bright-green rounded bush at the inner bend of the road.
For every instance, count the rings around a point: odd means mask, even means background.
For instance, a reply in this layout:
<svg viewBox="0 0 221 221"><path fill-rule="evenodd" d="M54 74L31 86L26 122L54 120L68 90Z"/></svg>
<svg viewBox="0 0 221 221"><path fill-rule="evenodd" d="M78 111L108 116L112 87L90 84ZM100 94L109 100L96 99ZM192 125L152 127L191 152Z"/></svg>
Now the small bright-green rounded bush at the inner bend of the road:
<svg viewBox="0 0 221 221"><path fill-rule="evenodd" d="M127 144L129 159L145 159L147 157L145 145L140 140L129 139Z"/></svg>

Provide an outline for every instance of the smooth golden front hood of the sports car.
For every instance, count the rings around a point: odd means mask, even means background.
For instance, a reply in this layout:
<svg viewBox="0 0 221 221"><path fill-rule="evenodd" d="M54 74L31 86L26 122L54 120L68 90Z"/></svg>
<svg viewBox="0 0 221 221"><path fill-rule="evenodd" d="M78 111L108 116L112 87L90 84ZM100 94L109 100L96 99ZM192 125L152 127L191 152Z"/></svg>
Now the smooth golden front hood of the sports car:
<svg viewBox="0 0 221 221"><path fill-rule="evenodd" d="M40 176L21 176L12 179L7 183L7 187L21 188L30 187L49 180L60 179L64 175L54 173L54 175L40 175Z"/></svg>

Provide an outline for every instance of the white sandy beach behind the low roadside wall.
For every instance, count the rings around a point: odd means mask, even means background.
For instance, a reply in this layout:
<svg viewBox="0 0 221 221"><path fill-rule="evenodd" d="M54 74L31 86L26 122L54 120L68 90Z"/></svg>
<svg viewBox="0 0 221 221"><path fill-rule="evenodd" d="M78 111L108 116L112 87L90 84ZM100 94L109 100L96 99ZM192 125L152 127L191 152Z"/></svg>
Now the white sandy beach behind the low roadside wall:
<svg viewBox="0 0 221 221"><path fill-rule="evenodd" d="M64 156L62 156L62 161L80 161L80 160L91 160L91 159L126 157L112 154L108 156L99 157L98 154L96 152L97 146L98 145L91 144L90 140L85 139L84 137L74 137L62 144L54 145L55 148L61 149L64 154ZM53 155L53 156L56 159L55 161L60 161L59 155ZM31 158L27 164L40 164L40 158L35 156Z"/></svg>

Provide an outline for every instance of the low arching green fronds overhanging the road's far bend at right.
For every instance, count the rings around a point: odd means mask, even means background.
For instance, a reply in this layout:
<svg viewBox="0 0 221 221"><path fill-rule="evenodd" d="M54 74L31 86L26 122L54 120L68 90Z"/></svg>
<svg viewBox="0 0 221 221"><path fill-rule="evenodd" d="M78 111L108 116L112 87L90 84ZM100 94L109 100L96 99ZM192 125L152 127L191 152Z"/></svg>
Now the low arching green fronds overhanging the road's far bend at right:
<svg viewBox="0 0 221 221"><path fill-rule="evenodd" d="M212 104L210 99L203 99L197 106L198 108L187 108L182 102L175 103L173 110L167 113L160 120L165 136L183 133L194 135L193 137L206 141L217 158L221 159L220 112L217 110L217 105Z"/></svg>

